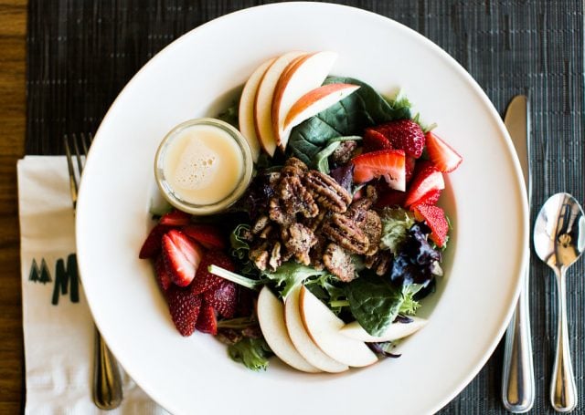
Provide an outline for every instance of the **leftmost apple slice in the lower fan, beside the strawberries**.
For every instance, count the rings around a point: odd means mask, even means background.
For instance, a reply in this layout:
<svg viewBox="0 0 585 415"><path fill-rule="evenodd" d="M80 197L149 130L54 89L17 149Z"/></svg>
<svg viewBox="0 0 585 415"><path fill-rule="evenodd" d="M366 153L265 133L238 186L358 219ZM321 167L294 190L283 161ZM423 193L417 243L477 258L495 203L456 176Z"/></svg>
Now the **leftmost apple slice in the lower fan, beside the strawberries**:
<svg viewBox="0 0 585 415"><path fill-rule="evenodd" d="M316 373L321 371L307 362L294 348L284 325L282 302L272 294L271 289L266 285L258 296L256 314L262 335L276 356L289 366L303 372Z"/></svg>

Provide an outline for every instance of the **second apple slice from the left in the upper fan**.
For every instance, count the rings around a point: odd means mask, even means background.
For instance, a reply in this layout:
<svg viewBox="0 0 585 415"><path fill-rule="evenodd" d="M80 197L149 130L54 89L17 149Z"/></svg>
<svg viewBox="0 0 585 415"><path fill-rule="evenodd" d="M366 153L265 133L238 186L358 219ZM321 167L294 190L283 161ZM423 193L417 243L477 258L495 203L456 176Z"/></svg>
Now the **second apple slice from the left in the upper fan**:
<svg viewBox="0 0 585 415"><path fill-rule="evenodd" d="M306 55L305 52L293 51L277 57L266 69L254 98L254 128L260 139L262 149L269 156L276 150L276 136L272 128L272 99L274 89L288 65L297 57Z"/></svg>

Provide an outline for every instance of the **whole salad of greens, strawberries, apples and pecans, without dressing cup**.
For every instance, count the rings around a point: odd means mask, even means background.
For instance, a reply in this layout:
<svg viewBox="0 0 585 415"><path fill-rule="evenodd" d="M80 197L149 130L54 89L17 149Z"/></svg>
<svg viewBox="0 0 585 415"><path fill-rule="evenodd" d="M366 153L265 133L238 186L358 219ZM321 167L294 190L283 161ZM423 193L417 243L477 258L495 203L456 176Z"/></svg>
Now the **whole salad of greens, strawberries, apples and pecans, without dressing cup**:
<svg viewBox="0 0 585 415"><path fill-rule="evenodd" d="M228 345L246 367L276 355L305 372L397 358L442 275L450 223L437 204L462 157L333 52L267 60L218 116L239 129L254 176L223 212L158 209L139 256L185 337Z"/></svg>

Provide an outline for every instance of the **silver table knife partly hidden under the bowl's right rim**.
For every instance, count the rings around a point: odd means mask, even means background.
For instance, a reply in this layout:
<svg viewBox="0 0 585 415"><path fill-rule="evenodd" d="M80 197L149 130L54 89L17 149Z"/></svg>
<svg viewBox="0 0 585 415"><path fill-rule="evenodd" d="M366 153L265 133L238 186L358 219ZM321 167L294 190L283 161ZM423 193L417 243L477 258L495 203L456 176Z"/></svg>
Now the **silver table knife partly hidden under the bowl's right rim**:
<svg viewBox="0 0 585 415"><path fill-rule="evenodd" d="M510 133L527 185L528 206L531 200L530 145L528 99L516 95L505 112L505 127ZM529 261L523 270L523 286L516 310L505 332L504 368L502 371L502 401L505 409L515 413L527 412L535 398L534 364L528 310Z"/></svg>

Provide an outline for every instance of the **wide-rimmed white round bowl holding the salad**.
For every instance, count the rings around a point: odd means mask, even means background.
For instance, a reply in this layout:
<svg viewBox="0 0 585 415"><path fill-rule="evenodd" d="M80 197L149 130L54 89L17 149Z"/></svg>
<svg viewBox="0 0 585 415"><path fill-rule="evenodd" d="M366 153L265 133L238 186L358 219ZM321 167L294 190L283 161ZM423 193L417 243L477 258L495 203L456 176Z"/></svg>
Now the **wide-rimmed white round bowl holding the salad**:
<svg viewBox="0 0 585 415"><path fill-rule="evenodd" d="M308 375L276 359L255 373L214 338L181 337L148 261L154 153L168 130L213 115L252 70L293 49L334 50L333 73L382 93L402 88L463 155L443 204L452 218L447 275L426 300L431 321L401 358L340 375ZM265 5L220 17L154 57L115 100L85 167L78 260L91 312L123 368L176 414L431 413L494 351L519 292L528 214L516 154L473 78L441 48L388 18L317 3ZM485 393L490 393L485 391Z"/></svg>

